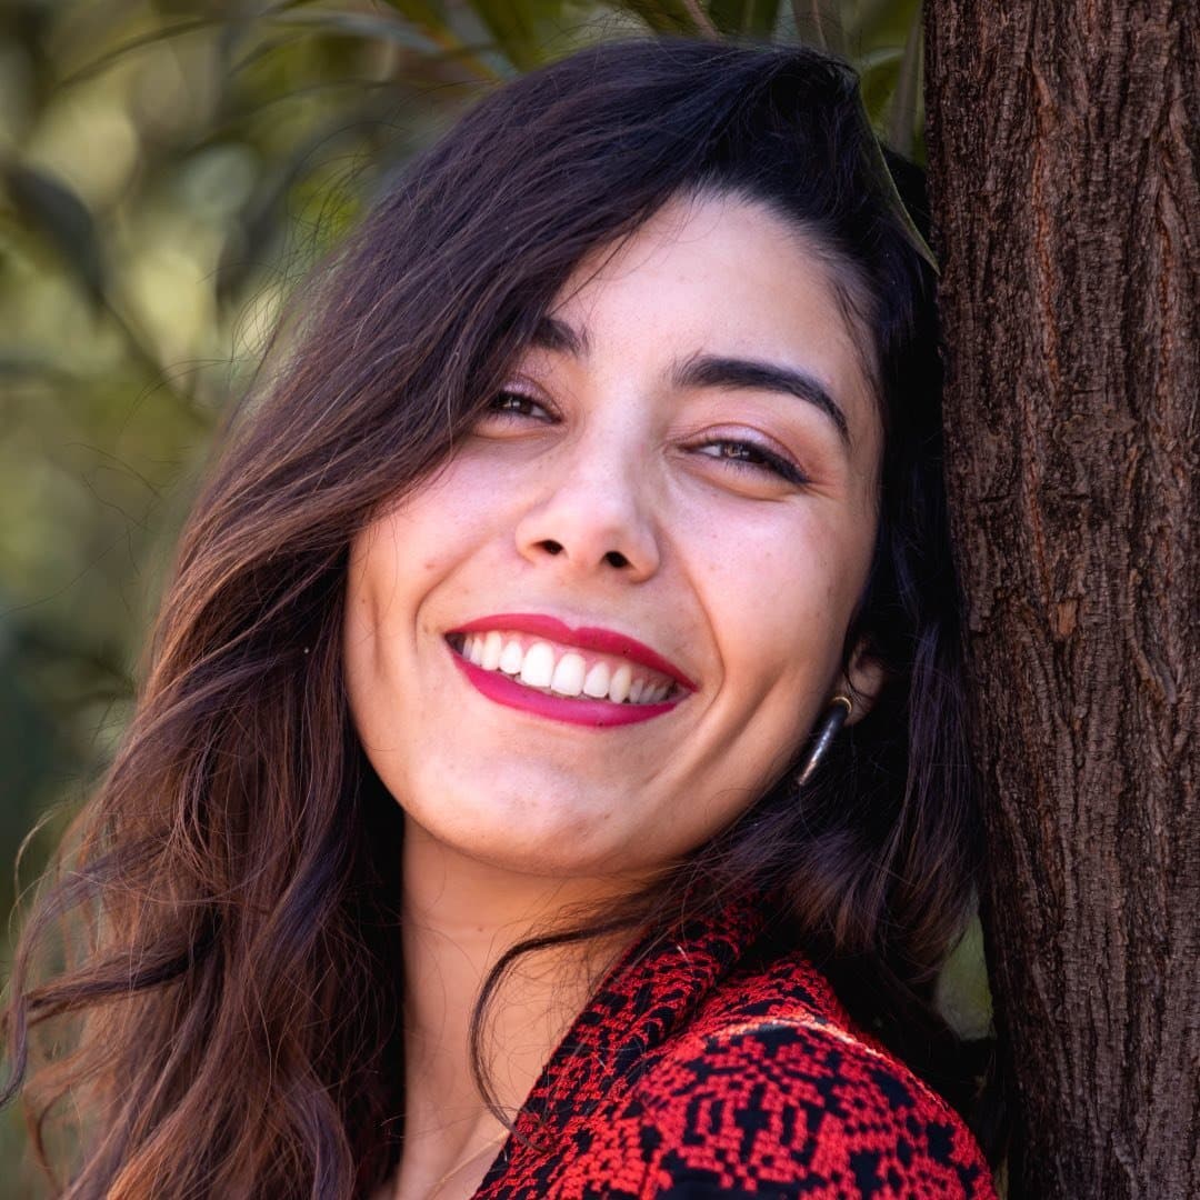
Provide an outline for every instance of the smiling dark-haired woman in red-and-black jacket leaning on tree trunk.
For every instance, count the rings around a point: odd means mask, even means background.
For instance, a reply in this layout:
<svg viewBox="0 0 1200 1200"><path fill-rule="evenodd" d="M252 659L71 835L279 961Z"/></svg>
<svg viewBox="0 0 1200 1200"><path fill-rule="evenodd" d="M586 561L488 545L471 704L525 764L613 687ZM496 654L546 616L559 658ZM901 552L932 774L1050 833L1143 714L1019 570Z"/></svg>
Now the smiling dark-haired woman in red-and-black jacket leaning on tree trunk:
<svg viewBox="0 0 1200 1200"><path fill-rule="evenodd" d="M26 923L64 1194L992 1194L924 253L809 50L590 49L410 166Z"/></svg>

